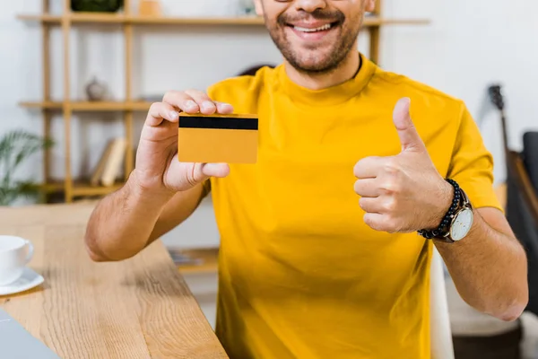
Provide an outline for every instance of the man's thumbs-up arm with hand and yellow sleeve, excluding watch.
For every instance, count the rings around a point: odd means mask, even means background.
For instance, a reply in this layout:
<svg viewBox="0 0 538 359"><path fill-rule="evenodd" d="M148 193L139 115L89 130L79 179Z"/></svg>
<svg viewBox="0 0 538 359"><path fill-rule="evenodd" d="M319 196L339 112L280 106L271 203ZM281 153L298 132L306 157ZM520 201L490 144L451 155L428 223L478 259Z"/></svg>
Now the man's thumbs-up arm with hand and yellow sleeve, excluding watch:
<svg viewBox="0 0 538 359"><path fill-rule="evenodd" d="M454 189L439 174L413 126L409 101L398 101L394 122L402 152L365 158L355 166L364 221L384 232L437 228ZM465 302L500 320L515 320L528 301L525 251L499 210L491 186L492 161L480 139L472 118L465 115L447 174L475 208L471 232L455 243L434 243Z"/></svg>

